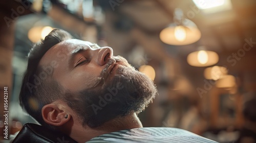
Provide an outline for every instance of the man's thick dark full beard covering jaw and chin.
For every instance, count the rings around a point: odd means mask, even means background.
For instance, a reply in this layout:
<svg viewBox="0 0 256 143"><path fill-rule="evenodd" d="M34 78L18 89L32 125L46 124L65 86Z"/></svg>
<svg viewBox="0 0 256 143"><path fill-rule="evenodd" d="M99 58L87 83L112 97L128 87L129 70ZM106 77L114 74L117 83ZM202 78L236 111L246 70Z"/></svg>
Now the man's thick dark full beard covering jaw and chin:
<svg viewBox="0 0 256 143"><path fill-rule="evenodd" d="M115 117L141 112L157 94L154 82L125 62L113 77L99 79L95 85L79 91L77 100L69 99L83 126L92 128Z"/></svg>

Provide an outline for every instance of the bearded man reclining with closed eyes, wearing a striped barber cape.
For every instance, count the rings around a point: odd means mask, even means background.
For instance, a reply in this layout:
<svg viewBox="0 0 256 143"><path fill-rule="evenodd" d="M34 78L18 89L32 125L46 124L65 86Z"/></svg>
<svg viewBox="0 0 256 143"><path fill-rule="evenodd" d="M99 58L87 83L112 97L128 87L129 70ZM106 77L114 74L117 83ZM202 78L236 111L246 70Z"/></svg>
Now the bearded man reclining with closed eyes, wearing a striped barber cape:
<svg viewBox="0 0 256 143"><path fill-rule="evenodd" d="M143 128L137 114L156 94L154 82L111 47L55 29L31 49L19 101L42 126L77 142L214 142L176 128Z"/></svg>

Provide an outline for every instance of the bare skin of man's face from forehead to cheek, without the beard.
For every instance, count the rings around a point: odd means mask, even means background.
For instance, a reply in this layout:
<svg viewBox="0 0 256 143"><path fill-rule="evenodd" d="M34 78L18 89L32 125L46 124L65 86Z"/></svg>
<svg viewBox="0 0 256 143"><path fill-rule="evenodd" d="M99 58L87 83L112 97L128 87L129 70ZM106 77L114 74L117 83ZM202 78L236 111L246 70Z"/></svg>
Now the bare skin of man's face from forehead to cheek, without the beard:
<svg viewBox="0 0 256 143"><path fill-rule="evenodd" d="M117 58L116 58L117 59ZM79 91L92 88L101 80L109 80L118 66L129 66L126 61L116 62L111 47L98 48L91 42L70 39L53 46L39 65L54 62L52 77L65 89Z"/></svg>

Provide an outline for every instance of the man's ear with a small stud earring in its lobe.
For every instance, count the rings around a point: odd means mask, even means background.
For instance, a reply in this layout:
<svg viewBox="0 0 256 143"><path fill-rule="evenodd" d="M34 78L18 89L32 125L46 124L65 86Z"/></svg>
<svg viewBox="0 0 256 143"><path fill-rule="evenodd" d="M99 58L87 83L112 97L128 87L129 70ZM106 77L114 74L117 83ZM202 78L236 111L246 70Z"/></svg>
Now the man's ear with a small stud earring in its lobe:
<svg viewBox="0 0 256 143"><path fill-rule="evenodd" d="M70 120L70 115L65 118L67 112L59 109L59 107L54 103L45 105L42 107L41 111L44 121L53 126L61 126Z"/></svg>

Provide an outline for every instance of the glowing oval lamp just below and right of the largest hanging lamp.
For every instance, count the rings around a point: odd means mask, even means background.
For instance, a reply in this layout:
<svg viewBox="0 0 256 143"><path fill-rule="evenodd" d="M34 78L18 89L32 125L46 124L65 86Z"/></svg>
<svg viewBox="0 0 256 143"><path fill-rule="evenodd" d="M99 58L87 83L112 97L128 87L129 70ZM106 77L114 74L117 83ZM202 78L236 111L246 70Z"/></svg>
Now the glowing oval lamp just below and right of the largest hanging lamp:
<svg viewBox="0 0 256 143"><path fill-rule="evenodd" d="M210 66L216 64L218 61L219 56L213 51L196 51L187 56L187 63L191 66Z"/></svg>

